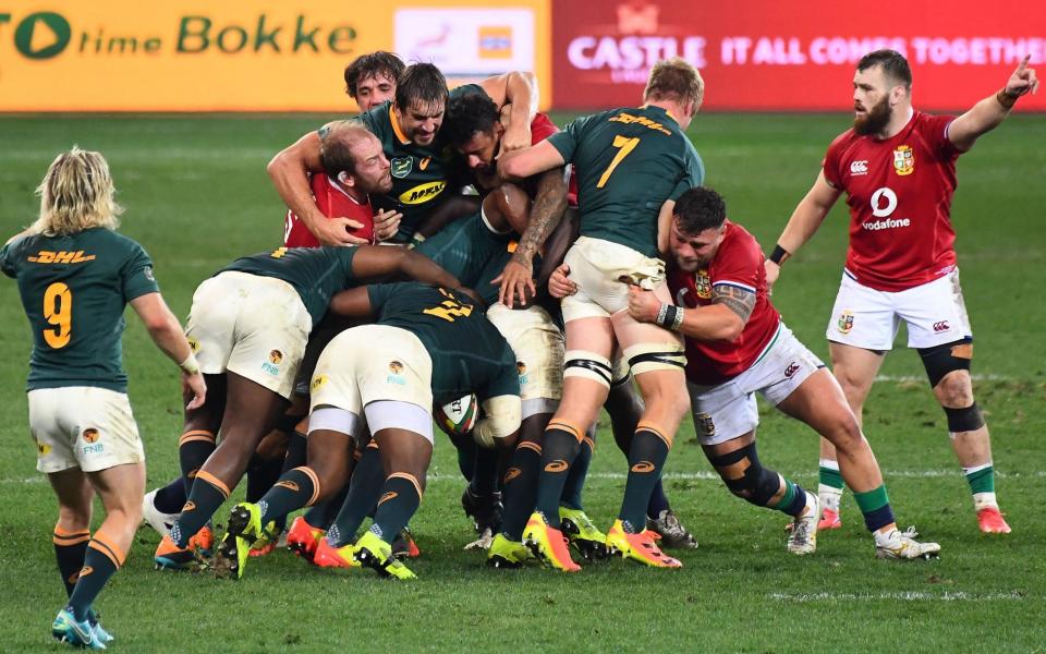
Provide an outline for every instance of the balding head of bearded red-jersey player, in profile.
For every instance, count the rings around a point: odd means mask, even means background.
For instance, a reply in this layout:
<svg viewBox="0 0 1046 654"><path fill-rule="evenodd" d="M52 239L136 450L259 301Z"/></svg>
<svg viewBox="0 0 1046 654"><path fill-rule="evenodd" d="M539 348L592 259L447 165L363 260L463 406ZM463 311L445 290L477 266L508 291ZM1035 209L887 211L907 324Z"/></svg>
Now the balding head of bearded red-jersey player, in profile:
<svg viewBox="0 0 1046 654"><path fill-rule="evenodd" d="M328 175L354 191L388 193L392 190L391 167L381 142L355 122L343 120L320 130L319 161Z"/></svg>

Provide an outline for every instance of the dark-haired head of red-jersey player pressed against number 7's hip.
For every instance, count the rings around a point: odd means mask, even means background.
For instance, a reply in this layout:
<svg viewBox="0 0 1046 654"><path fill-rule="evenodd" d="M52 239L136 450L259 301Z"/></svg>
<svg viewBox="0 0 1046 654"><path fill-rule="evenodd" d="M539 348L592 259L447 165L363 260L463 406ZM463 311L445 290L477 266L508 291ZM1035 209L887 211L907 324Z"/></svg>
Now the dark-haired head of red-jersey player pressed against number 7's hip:
<svg viewBox="0 0 1046 654"><path fill-rule="evenodd" d="M726 234L727 205L722 197L704 186L695 186L676 201L669 247L681 270L693 272L707 266L719 252Z"/></svg>

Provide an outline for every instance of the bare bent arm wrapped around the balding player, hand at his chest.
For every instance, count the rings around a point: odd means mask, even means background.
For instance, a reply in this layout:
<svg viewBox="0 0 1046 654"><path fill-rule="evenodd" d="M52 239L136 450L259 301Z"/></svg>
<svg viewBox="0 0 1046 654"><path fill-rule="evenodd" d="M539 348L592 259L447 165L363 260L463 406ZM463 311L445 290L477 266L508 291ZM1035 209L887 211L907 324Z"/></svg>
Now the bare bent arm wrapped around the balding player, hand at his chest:
<svg viewBox="0 0 1046 654"><path fill-rule="evenodd" d="M327 129L327 125L323 129ZM360 222L349 218L327 218L316 206L308 186L308 173L324 171L320 164L319 132L309 132L281 150L272 157L266 170L283 203L305 223L308 231L316 235L321 245L367 242L366 239L349 233L351 229L363 227Z"/></svg>

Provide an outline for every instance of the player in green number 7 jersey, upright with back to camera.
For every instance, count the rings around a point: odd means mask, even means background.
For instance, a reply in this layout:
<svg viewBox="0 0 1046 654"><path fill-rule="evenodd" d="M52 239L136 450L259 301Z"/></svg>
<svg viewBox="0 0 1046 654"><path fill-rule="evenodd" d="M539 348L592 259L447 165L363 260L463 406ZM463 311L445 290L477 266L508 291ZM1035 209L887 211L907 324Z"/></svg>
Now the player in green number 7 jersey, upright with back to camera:
<svg viewBox="0 0 1046 654"><path fill-rule="evenodd" d="M607 399L616 343L646 407L632 439L624 500L607 546L649 566L681 566L661 554L645 525L652 489L689 404L683 347L678 335L629 315L628 284L622 280L643 284L671 302L665 264L657 258L658 220L667 220L674 199L704 178L701 158L683 132L703 92L692 65L678 58L659 62L650 71L643 107L580 118L564 131L498 161L498 170L509 179L525 179L568 162L577 173L582 235L565 261L580 292L563 301L563 400L544 435L537 510L524 531L524 540L539 557L559 570L580 569L563 545L558 505L570 464ZM536 227L531 225L527 231ZM522 240L528 242L530 234L524 232Z"/></svg>

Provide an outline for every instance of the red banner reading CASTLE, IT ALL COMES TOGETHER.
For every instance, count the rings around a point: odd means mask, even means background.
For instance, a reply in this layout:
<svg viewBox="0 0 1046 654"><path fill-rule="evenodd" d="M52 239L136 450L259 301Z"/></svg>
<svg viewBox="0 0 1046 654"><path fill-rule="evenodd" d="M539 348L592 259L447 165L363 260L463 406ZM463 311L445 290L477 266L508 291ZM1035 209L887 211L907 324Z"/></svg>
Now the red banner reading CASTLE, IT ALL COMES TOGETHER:
<svg viewBox="0 0 1046 654"><path fill-rule="evenodd" d="M854 64L879 48L912 66L914 104L965 109L998 90L1025 55L1046 76L1046 3L928 0L552 0L557 108L641 100L650 66L683 57L705 77L705 108L846 110ZM1046 93L1018 110L1046 110Z"/></svg>

